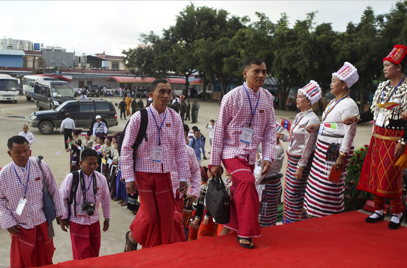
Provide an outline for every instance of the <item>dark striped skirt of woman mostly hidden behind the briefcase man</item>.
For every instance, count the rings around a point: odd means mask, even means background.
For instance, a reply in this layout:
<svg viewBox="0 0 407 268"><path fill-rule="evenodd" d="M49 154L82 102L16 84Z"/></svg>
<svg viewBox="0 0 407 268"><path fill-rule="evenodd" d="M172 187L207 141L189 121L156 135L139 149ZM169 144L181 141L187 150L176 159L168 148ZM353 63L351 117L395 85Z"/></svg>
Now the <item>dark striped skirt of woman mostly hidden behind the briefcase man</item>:
<svg viewBox="0 0 407 268"><path fill-rule="evenodd" d="M277 224L277 209L282 192L281 179L257 186L261 200L259 206L259 224L261 227L275 226Z"/></svg>

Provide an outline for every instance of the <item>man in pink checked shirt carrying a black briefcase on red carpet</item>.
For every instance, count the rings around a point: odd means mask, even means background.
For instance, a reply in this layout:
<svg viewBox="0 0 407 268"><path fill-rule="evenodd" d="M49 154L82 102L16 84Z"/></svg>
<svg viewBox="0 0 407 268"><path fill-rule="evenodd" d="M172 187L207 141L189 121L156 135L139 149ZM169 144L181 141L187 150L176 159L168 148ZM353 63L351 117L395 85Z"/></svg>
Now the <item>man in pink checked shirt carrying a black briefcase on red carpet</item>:
<svg viewBox="0 0 407 268"><path fill-rule="evenodd" d="M238 233L239 245L253 249L252 237L261 235L258 221L259 200L253 175L256 151L262 144L261 174L276 158L276 119L273 96L261 86L267 70L256 57L244 62L246 82L222 98L212 141L212 174L221 173L220 164L232 175L231 218L221 235ZM216 220L216 219L215 219Z"/></svg>

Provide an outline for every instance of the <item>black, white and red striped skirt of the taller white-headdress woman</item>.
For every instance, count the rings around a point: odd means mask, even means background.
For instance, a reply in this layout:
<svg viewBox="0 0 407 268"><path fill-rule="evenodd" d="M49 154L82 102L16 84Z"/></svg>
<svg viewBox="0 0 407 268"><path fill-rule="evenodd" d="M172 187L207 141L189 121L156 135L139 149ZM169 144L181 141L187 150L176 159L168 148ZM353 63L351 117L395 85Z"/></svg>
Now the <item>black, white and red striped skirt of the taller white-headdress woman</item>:
<svg viewBox="0 0 407 268"><path fill-rule="evenodd" d="M341 139L342 140L342 139ZM328 181L332 164L326 161L329 142L318 139L305 188L304 209L308 217L322 217L344 212L345 173L354 147L349 149L347 161L338 183Z"/></svg>

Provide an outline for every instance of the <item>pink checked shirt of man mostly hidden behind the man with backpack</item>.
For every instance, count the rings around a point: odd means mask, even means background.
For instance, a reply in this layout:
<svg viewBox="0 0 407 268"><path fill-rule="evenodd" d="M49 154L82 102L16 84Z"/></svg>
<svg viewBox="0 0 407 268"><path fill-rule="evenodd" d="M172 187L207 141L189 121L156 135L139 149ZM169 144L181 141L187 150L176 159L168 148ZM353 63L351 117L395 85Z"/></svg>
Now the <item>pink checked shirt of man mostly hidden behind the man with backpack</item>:
<svg viewBox="0 0 407 268"><path fill-rule="evenodd" d="M199 197L199 194L200 194L199 164L198 164L198 161L196 160L194 149L192 149L192 147L185 144L185 150L187 151L188 164L189 164L189 169L191 171L191 176L189 177L189 182L191 184L191 190L188 192L189 192L189 194ZM174 167L175 167L175 165L174 165ZM175 196L176 189L178 189L178 187L179 187L179 182L180 182L180 180L178 178L178 171L176 169L174 169L171 171L171 183L172 183L172 190L174 192L174 196Z"/></svg>

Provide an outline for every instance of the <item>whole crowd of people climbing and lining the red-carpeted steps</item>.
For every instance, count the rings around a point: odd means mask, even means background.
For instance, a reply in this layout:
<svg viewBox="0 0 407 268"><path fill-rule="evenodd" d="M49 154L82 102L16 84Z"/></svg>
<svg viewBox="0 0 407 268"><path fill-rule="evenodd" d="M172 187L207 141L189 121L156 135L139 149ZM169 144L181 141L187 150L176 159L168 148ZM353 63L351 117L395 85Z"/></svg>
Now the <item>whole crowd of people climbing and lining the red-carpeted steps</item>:
<svg viewBox="0 0 407 268"><path fill-rule="evenodd" d="M253 249L261 227L276 225L279 204L284 205L283 224L344 211L345 175L357 123L372 120L373 136L358 185L374 194L376 211L366 222L384 218L388 197L392 210L389 228L399 228L404 217L401 167L407 165L407 134L403 133L407 127L406 54L407 48L397 45L383 59L389 80L379 84L365 113L359 114L349 96L358 73L353 64L345 62L332 74L330 91L335 98L321 120L312 110L321 99L321 88L311 80L298 90L300 113L294 121L283 119L281 124L275 117L273 96L262 88L265 61L248 58L243 66L245 82L223 96L216 121L206 126L211 143L208 166L202 163L207 158L205 136L196 126L190 130L183 123L193 106L188 110L184 96L173 96L165 79L151 83L145 110L140 108L142 99L123 99L123 115L130 119L125 130L114 136L107 136L97 116L94 129L86 132L82 142L82 130L66 116L61 133L71 153L71 172L60 187L48 165L30 157L35 139L28 126L23 126L19 136L8 140L12 162L0 171L0 224L11 233L11 267L52 263L55 249L42 210L43 180L61 229L70 230L74 259L99 255L98 207L101 204L102 230L107 231L109 198L126 204L135 214L126 232L125 252L137 250L139 244L151 248L232 232L241 247ZM386 109L389 102L392 109ZM127 107L132 108L131 113ZM192 113L192 123L196 120ZM282 142L288 143L286 153ZM220 225L208 211L205 197L208 182L223 173L232 198L230 221Z"/></svg>

